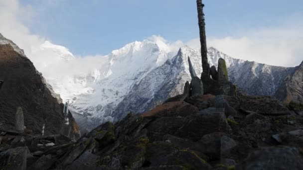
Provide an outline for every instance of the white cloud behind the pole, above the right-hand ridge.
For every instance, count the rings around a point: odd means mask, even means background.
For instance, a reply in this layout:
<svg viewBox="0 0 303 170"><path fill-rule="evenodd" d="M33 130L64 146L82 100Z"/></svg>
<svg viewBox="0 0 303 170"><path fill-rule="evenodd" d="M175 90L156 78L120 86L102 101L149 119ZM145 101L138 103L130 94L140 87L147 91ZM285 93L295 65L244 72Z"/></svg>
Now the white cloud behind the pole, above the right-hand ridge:
<svg viewBox="0 0 303 170"><path fill-rule="evenodd" d="M293 67L303 61L302 32L303 16L297 14L282 19L276 26L242 29L235 31L234 36L223 38L208 37L207 45L234 58ZM199 39L193 39L187 44L195 48L200 47Z"/></svg>

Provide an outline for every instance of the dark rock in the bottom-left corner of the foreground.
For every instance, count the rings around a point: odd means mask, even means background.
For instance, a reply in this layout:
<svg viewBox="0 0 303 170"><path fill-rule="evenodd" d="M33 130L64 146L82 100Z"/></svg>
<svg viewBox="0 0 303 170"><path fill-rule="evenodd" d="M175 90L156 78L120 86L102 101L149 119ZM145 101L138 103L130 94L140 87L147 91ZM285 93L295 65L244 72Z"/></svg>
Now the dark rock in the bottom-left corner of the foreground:
<svg viewBox="0 0 303 170"><path fill-rule="evenodd" d="M11 148L0 153L1 170L26 170L26 159L29 154L27 147Z"/></svg>

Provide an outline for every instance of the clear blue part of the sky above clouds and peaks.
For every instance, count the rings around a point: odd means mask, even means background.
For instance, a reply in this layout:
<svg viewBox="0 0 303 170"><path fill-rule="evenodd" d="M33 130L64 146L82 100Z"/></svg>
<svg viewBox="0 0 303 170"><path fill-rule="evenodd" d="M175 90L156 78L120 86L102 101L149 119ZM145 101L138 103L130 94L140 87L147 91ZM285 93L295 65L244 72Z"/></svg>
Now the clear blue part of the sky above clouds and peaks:
<svg viewBox="0 0 303 170"><path fill-rule="evenodd" d="M196 0L22 0L37 9L30 31L77 55L108 54L152 35L198 37ZM270 27L303 11L303 0L204 0L207 36Z"/></svg>

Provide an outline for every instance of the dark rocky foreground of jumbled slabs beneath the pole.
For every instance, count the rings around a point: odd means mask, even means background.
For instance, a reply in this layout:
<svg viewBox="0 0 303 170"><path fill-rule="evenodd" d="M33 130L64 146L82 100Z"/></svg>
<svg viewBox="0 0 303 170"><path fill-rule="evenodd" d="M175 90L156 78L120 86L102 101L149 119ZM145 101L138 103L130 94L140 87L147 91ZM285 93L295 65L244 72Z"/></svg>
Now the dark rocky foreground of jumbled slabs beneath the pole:
<svg viewBox="0 0 303 170"><path fill-rule="evenodd" d="M3 131L0 169L303 170L302 110L266 96L201 95L130 113L76 142Z"/></svg>

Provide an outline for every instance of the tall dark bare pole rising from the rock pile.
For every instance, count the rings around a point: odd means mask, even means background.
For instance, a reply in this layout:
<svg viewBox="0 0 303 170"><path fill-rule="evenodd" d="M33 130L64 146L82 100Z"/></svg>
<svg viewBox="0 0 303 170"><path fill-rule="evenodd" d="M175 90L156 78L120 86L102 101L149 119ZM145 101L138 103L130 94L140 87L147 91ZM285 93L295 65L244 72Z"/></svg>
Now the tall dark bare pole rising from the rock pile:
<svg viewBox="0 0 303 170"><path fill-rule="evenodd" d="M201 43L201 57L202 57L202 78L209 78L209 64L207 61L207 46L206 46L206 33L205 33L205 19L203 13L204 4L202 0L197 0L197 9L198 9L198 24L200 32L200 43Z"/></svg>

